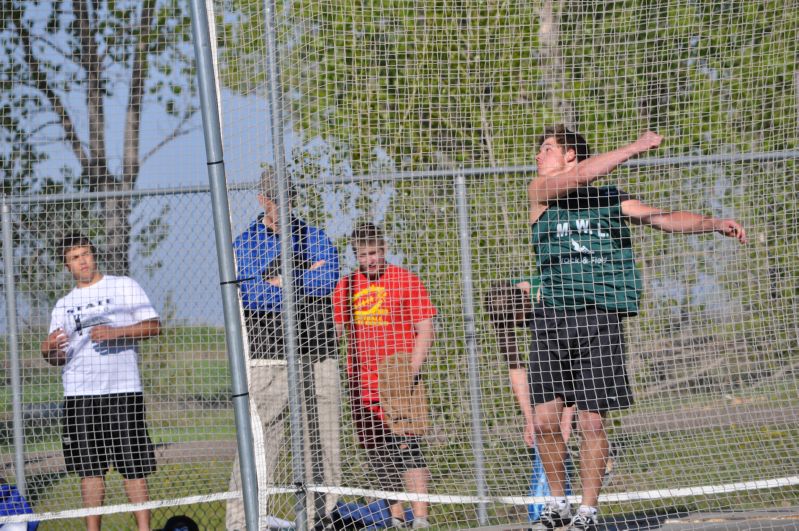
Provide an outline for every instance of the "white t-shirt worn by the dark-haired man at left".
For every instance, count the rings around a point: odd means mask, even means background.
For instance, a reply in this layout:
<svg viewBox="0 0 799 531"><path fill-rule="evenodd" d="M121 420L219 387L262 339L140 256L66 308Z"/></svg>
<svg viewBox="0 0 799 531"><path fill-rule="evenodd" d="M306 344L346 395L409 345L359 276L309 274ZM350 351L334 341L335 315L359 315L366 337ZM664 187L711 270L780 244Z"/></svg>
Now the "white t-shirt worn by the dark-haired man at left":
<svg viewBox="0 0 799 531"><path fill-rule="evenodd" d="M64 396L140 393L136 339L95 343L91 327L129 326L157 319L147 294L135 280L105 275L86 288L75 288L53 308L50 332L62 328L69 338L64 365Z"/></svg>

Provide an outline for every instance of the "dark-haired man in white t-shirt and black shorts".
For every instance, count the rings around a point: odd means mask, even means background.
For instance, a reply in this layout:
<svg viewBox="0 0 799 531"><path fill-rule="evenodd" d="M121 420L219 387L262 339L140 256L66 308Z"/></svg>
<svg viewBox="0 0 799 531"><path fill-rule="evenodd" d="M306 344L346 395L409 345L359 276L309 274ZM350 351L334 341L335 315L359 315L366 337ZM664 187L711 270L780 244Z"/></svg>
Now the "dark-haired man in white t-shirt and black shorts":
<svg viewBox="0 0 799 531"><path fill-rule="evenodd" d="M100 507L105 474L113 466L124 478L131 503L149 500L147 477L155 453L147 433L138 366L138 342L157 336L161 325L144 290L128 277L103 275L95 249L73 234L61 244L75 289L53 309L44 358L62 366L62 446L68 472L81 478L85 507ZM138 529L150 529L150 511L134 511ZM86 517L99 530L100 515Z"/></svg>

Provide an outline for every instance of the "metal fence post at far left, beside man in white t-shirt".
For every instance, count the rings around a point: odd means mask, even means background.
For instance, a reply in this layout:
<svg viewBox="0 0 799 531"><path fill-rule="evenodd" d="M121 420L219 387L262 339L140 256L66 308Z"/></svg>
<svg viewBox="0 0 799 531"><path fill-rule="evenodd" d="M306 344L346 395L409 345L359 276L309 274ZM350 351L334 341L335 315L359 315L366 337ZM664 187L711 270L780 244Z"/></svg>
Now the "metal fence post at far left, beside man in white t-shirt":
<svg viewBox="0 0 799 531"><path fill-rule="evenodd" d="M19 367L19 337L17 335L17 295L14 289L14 238L11 227L11 207L3 200L3 268L5 273L6 322L8 352L11 358L11 403L14 426L14 471L17 488L25 496L25 425L22 421L22 380Z"/></svg>

